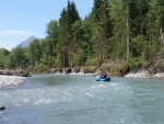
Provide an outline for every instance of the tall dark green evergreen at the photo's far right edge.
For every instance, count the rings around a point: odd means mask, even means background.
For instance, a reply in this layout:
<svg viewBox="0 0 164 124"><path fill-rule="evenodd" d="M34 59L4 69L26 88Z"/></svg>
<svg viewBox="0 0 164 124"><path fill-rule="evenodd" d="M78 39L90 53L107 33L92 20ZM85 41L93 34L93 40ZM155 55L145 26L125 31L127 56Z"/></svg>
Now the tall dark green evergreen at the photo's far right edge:
<svg viewBox="0 0 164 124"><path fill-rule="evenodd" d="M163 48L164 1L150 0L148 21L149 61L156 61L156 53ZM154 58L154 59L152 59Z"/></svg>

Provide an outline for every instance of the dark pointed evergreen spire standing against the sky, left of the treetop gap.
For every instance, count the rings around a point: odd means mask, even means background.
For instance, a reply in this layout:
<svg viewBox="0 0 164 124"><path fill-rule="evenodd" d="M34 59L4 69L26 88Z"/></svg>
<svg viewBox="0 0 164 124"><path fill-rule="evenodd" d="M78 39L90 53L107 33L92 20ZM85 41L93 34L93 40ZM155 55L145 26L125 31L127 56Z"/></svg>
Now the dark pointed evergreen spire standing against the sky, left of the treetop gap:
<svg viewBox="0 0 164 124"><path fill-rule="evenodd" d="M80 20L79 12L75 8L74 2L68 0L67 9L61 12L61 18L59 19L60 36L59 45L62 44L62 55L60 55L60 61L62 61L62 67L72 67L72 47L73 47L73 31L72 25L75 21ZM61 35L62 34L62 35ZM65 36L65 38L62 38Z"/></svg>

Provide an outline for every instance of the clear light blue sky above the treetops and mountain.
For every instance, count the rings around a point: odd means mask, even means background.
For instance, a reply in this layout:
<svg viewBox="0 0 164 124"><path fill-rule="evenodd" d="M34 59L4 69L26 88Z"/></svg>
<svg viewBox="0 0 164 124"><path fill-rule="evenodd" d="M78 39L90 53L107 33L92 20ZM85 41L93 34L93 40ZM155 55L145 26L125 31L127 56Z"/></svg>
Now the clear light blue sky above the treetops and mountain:
<svg viewBox="0 0 164 124"><path fill-rule="evenodd" d="M93 7L93 0L74 1L81 18ZM11 50L32 35L44 38L47 23L58 20L68 0L0 0L0 48Z"/></svg>

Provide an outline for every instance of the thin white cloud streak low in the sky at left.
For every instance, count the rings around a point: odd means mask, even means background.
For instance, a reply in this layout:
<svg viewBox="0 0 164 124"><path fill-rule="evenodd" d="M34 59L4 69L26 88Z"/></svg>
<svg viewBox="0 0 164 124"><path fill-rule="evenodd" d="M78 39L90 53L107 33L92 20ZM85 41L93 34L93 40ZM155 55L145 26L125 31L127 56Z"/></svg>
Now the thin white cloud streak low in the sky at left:
<svg viewBox="0 0 164 124"><path fill-rule="evenodd" d="M19 36L19 35L28 35L30 31L0 31L0 35L5 36Z"/></svg>

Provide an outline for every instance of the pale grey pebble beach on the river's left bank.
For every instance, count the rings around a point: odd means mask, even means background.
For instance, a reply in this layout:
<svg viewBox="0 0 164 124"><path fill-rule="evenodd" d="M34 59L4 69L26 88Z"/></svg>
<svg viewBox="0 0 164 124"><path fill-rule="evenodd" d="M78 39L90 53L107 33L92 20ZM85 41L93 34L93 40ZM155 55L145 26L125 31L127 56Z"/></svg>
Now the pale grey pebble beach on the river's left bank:
<svg viewBox="0 0 164 124"><path fill-rule="evenodd" d="M0 88L21 86L25 77L0 75Z"/></svg>

